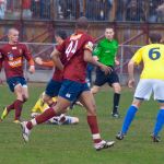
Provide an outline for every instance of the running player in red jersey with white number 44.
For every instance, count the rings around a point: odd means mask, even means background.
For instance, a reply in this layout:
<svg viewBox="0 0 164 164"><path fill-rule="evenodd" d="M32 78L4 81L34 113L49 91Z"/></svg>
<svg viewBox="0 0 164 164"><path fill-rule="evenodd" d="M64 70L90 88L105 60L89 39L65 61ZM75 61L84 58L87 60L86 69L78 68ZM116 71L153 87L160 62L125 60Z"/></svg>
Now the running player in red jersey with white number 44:
<svg viewBox="0 0 164 164"><path fill-rule="evenodd" d="M75 32L68 37L62 45L56 47L51 54L56 67L63 70L63 81L59 91L58 101L55 106L45 110L42 115L30 121L23 121L22 134L27 142L31 130L36 125L47 121L49 118L63 114L70 103L80 97L86 108L87 124L92 133L94 148L102 150L114 145L114 141L104 141L101 138L94 97L85 82L86 65L91 62L108 73L109 68L92 57L93 39L86 34L89 27L87 19L82 16L77 20ZM65 66L60 61L60 55L65 54L67 61Z"/></svg>

